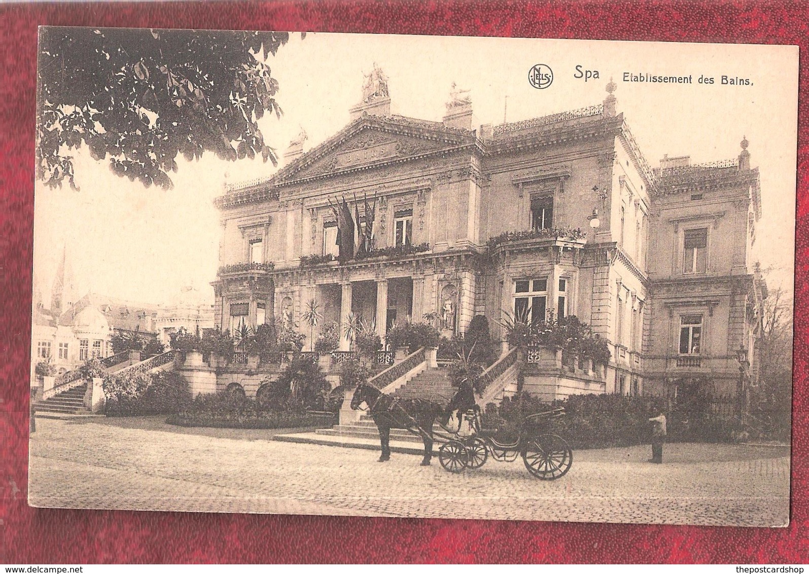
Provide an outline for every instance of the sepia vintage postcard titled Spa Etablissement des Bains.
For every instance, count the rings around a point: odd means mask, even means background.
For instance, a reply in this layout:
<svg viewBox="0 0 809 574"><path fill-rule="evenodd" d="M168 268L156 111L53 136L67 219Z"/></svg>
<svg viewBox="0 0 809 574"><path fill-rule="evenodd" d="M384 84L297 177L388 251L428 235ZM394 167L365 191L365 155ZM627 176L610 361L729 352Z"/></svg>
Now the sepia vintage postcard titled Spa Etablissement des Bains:
<svg viewBox="0 0 809 574"><path fill-rule="evenodd" d="M33 506L789 523L797 48L38 65Z"/></svg>

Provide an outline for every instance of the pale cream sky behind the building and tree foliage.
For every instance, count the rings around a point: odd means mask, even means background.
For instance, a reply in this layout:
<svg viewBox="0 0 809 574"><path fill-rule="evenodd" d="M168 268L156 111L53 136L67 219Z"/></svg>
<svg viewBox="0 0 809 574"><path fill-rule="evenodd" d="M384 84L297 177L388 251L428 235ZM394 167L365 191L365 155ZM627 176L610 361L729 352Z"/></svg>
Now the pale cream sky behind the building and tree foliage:
<svg viewBox="0 0 809 574"><path fill-rule="evenodd" d="M534 40L452 36L298 34L269 57L284 111L260 120L265 141L283 154L301 128L309 150L349 123L362 95L363 73L374 63L388 76L392 111L440 121L451 83L470 90L480 124L563 112L601 103L610 77L617 111L625 113L643 154L657 167L663 154L692 162L730 159L750 142L760 167L763 217L754 259L775 268L769 284L791 291L794 268L798 50L788 46L676 44L595 40ZM553 69L537 90L528 70ZM598 78L576 78L577 67ZM625 82L632 74L692 76L693 83ZM749 86L722 86L721 77ZM698 82L715 78L713 85ZM74 155L79 191L35 188L34 279L44 300L66 247L77 297L95 293L140 302L171 303L192 285L213 302L221 228L214 197L226 183L276 171L260 157L227 162L205 154L177 158L174 188L144 188L113 175L108 162ZM283 165L283 164L282 164Z"/></svg>

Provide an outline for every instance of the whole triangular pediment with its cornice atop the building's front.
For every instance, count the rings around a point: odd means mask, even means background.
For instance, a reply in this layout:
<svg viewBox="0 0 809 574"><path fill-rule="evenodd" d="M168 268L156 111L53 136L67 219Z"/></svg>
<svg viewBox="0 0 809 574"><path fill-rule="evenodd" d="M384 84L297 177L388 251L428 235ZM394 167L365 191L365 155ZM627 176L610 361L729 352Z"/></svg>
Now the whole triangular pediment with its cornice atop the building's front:
<svg viewBox="0 0 809 574"><path fill-rule="evenodd" d="M324 177L473 144L473 132L435 122L363 117L278 171L275 184Z"/></svg>

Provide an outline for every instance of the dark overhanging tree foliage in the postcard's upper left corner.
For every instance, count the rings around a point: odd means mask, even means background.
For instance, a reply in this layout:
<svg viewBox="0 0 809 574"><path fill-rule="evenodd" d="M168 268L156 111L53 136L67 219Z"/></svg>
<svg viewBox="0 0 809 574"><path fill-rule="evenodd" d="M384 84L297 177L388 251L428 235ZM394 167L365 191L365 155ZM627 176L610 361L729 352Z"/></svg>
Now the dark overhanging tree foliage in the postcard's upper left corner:
<svg viewBox="0 0 809 574"><path fill-rule="evenodd" d="M265 58L285 32L49 27L37 65L36 175L51 187L67 179L65 150L87 144L116 175L172 188L177 154L212 151L235 160L261 154L258 120L281 114L278 82Z"/></svg>

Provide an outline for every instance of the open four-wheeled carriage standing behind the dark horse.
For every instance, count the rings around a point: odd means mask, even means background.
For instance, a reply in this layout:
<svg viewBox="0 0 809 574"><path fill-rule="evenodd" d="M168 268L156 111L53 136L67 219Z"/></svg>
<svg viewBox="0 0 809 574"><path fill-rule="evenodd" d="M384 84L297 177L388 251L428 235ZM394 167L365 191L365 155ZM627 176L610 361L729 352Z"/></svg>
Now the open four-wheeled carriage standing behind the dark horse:
<svg viewBox="0 0 809 574"><path fill-rule="evenodd" d="M553 434L553 420L564 414L565 409L560 407L526 416L518 435L507 437L499 428L481 428L479 410L464 412L459 431L447 437L438 450L441 466L450 472L462 472L480 468L489 456L498 462L514 462L521 455L532 476L541 480L559 479L573 465L570 445ZM460 434L464 426L470 430L468 435Z"/></svg>

